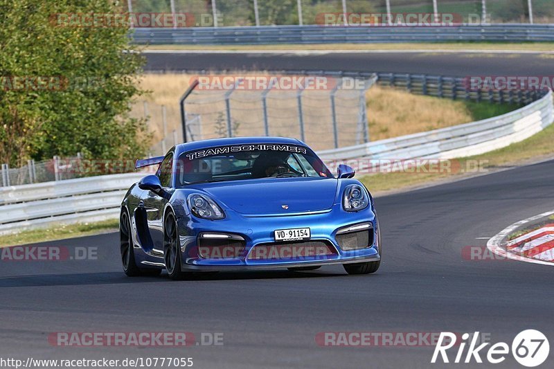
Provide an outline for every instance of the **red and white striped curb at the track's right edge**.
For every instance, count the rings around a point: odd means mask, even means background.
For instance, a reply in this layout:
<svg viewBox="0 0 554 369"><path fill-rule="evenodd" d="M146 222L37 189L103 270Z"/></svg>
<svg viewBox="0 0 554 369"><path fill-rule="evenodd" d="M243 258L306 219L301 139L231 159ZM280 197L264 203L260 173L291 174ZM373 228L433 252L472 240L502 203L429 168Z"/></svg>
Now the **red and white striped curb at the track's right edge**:
<svg viewBox="0 0 554 369"><path fill-rule="evenodd" d="M501 244L501 242L511 233L528 223L554 214L548 211L534 217L520 220L508 226L499 234L492 237L487 242L487 247L493 253L512 260L523 262L532 262L535 264L554 264L554 224L546 224L542 228L521 235L510 242Z"/></svg>

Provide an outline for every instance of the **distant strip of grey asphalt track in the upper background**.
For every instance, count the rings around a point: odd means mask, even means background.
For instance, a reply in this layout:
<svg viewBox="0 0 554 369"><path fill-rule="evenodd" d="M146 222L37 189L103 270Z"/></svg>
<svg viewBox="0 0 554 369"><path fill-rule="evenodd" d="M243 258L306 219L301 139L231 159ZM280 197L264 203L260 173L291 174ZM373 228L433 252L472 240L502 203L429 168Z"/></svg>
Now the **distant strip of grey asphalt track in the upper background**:
<svg viewBox="0 0 554 369"><path fill-rule="evenodd" d="M554 55L518 53L146 53L146 71L294 70L551 75ZM532 71L532 72L531 72Z"/></svg>

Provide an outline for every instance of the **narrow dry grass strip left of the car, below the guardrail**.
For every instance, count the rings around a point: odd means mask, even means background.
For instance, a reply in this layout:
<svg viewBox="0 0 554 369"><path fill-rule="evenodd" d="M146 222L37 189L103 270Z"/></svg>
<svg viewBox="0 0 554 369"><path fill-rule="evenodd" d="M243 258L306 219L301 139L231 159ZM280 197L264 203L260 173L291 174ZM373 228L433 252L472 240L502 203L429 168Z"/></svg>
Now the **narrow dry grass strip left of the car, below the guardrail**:
<svg viewBox="0 0 554 369"><path fill-rule="evenodd" d="M75 238L87 235L96 235L98 233L117 231L118 228L118 219L93 223L60 224L58 226L52 226L48 228L22 231L13 235L2 235L0 236L0 248L6 246L17 246L21 244L32 244L36 242L63 240L65 238Z"/></svg>

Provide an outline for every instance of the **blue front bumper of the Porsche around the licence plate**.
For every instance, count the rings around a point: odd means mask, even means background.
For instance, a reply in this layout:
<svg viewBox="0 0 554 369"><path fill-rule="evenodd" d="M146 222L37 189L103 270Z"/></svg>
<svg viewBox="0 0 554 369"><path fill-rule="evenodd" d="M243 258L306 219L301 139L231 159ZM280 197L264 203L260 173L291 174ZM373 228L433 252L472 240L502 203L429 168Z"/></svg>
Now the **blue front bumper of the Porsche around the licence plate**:
<svg viewBox="0 0 554 369"><path fill-rule="evenodd" d="M235 269L271 269L286 267L310 267L329 264L348 264L355 262L378 261L381 256L381 240L377 216L368 207L359 212L348 213L335 204L330 210L317 213L303 213L286 216L256 216L249 217L227 211L225 219L206 220L193 216L184 216L178 219L179 240L181 246L181 269L193 271L223 271ZM367 245L361 249L343 250L337 241L337 231L350 226L368 224L370 237ZM309 244L297 242L275 242L274 231L288 228L310 228L311 239ZM236 240L244 240L240 247L234 247L240 252L226 253L226 247L218 246L211 250L213 254L201 252L201 235L229 235ZM303 250L319 250L325 244L328 252L307 252L294 255L290 247ZM314 246L315 245L315 246ZM319 246L318 246L319 245ZM274 247L276 253L267 258L253 258L256 246ZM310 249L310 247L312 247ZM319 249L318 249L319 247ZM286 251L286 252L285 252ZM225 255L222 257L222 255ZM257 255L257 254L256 254Z"/></svg>

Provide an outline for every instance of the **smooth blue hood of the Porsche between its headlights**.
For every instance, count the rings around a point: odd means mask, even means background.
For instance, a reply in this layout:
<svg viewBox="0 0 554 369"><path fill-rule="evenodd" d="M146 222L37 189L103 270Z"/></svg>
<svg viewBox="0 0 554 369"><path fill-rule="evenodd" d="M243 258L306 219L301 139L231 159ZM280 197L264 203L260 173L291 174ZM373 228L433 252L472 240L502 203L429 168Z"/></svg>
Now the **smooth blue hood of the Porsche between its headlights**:
<svg viewBox="0 0 554 369"><path fill-rule="evenodd" d="M244 215L283 215L331 208L337 184L337 179L303 177L204 183L201 189Z"/></svg>

